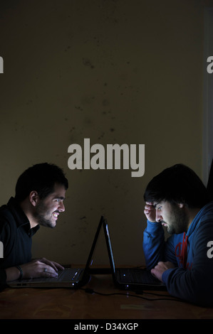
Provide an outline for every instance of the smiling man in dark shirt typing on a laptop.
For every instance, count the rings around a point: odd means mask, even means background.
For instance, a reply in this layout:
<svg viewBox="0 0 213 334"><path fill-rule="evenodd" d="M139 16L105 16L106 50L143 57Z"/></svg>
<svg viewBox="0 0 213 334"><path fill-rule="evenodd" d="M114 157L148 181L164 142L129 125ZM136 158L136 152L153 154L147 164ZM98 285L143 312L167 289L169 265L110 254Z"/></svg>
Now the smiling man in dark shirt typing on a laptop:
<svg viewBox="0 0 213 334"><path fill-rule="evenodd" d="M48 259L31 259L32 236L40 225L55 227L65 210L68 181L56 165L38 163L19 176L15 198L0 208L0 282L36 277L56 277L60 264Z"/></svg>

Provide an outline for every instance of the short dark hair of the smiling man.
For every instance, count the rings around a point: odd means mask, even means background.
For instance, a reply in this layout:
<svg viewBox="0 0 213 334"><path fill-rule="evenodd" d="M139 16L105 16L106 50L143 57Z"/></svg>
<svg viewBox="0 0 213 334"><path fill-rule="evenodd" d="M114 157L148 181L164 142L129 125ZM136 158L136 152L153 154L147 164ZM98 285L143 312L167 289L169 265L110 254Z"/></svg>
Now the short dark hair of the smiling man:
<svg viewBox="0 0 213 334"><path fill-rule="evenodd" d="M26 169L19 176L15 198L21 202L33 190L37 191L41 199L46 198L50 193L53 193L56 183L64 185L64 188L68 189L68 180L62 169L51 163L38 163Z"/></svg>

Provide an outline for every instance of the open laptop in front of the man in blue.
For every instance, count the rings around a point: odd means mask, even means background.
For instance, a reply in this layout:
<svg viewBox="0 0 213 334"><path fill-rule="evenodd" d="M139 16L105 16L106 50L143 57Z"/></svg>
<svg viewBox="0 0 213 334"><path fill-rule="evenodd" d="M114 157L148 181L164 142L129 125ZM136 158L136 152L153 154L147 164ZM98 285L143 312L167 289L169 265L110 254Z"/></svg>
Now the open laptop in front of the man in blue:
<svg viewBox="0 0 213 334"><path fill-rule="evenodd" d="M159 279L156 279L150 271L140 268L116 268L113 249L110 240L110 232L108 222L103 220L103 230L108 248L108 256L110 259L110 268L113 275L113 281L120 289L140 291L140 290L160 290L166 291L166 286Z"/></svg>

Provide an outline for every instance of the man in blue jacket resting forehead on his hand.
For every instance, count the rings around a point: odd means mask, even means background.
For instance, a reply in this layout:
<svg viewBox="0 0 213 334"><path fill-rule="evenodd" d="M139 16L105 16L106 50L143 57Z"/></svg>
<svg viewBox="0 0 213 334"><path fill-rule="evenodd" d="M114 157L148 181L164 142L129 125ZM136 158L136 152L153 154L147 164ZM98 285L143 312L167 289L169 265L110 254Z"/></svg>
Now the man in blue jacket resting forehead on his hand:
<svg viewBox="0 0 213 334"><path fill-rule="evenodd" d="M172 296L213 306L213 259L207 256L213 203L202 181L192 169L177 164L152 178L144 198L147 269ZM171 234L167 240L162 226Z"/></svg>

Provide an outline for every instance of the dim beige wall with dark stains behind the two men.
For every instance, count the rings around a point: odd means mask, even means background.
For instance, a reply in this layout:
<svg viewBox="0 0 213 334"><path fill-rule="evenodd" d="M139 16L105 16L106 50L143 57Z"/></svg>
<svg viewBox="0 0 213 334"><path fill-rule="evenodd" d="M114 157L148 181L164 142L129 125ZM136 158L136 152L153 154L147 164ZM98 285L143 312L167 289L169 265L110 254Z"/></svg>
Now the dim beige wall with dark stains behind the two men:
<svg viewBox="0 0 213 334"><path fill-rule="evenodd" d="M0 203L28 166L61 166L70 187L33 257L84 263L100 215L118 264L142 264L143 193L162 168L202 176L203 10L211 1L36 0L0 5ZM68 146L145 144L145 176L71 171ZM102 244L101 244L102 243ZM103 239L96 262L107 264Z"/></svg>

